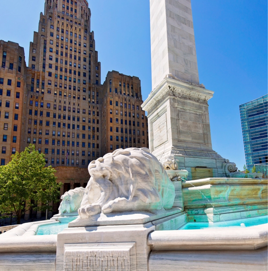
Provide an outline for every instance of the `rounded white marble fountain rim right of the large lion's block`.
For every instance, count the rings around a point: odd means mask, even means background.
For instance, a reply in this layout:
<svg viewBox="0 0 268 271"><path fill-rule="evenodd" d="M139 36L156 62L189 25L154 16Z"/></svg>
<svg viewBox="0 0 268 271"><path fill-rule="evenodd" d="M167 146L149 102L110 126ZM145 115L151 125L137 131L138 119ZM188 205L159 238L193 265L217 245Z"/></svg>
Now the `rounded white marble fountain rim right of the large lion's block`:
<svg viewBox="0 0 268 271"><path fill-rule="evenodd" d="M149 234L152 250L255 250L268 245L268 223L246 228L164 230Z"/></svg>

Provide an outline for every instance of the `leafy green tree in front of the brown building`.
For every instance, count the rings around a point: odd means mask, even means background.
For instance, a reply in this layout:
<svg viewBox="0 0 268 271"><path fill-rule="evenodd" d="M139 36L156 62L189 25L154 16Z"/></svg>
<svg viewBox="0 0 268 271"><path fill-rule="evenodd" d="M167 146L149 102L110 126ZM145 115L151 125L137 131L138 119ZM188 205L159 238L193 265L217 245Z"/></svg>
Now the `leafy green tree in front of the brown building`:
<svg viewBox="0 0 268 271"><path fill-rule="evenodd" d="M51 210L48 202L57 202L62 183L57 184L55 169L45 167L44 154L30 144L12 160L0 167L0 213L16 213L17 224L21 216L34 211Z"/></svg>

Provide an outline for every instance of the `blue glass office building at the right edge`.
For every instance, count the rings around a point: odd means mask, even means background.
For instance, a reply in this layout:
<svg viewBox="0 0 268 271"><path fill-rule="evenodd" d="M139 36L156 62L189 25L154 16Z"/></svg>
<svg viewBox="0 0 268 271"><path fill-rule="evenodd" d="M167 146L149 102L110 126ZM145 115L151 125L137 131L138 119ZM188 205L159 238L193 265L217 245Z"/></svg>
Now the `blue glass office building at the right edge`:
<svg viewBox="0 0 268 271"><path fill-rule="evenodd" d="M240 105L246 165L268 165L268 94Z"/></svg>

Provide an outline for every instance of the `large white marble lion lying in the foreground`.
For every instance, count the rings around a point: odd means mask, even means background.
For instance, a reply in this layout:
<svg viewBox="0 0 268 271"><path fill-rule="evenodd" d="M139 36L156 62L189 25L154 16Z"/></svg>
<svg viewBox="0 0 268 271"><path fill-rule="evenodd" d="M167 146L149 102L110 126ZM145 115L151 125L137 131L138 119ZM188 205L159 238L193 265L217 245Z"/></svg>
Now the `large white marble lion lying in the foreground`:
<svg viewBox="0 0 268 271"><path fill-rule="evenodd" d="M78 213L89 218L99 213L170 209L175 188L164 167L147 148L118 149L92 161L91 178Z"/></svg>

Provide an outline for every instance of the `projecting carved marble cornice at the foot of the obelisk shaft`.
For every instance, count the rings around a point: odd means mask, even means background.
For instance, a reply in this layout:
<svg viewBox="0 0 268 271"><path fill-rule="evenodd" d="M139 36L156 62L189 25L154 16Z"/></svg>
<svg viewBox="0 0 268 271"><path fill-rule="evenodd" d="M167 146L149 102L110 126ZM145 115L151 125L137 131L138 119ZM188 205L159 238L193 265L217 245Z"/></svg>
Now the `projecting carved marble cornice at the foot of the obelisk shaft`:
<svg viewBox="0 0 268 271"><path fill-rule="evenodd" d="M204 89L190 82L184 82L175 78L165 77L164 80L149 94L148 98L141 105L142 109L150 114L168 96L192 100L207 104L213 97L213 91Z"/></svg>

